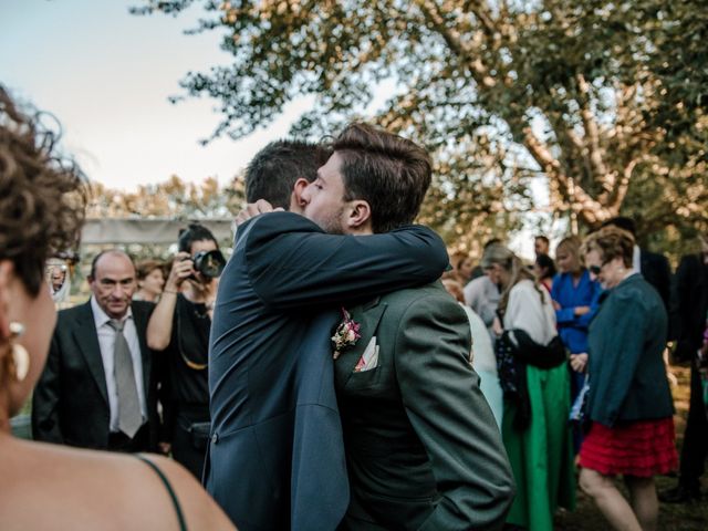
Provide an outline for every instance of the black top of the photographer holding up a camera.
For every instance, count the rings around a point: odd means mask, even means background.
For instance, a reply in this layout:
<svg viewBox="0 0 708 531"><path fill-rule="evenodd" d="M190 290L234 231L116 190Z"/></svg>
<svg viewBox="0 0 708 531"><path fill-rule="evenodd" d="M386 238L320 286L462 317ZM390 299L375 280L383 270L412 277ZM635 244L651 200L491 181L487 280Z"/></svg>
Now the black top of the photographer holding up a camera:
<svg viewBox="0 0 708 531"><path fill-rule="evenodd" d="M173 315L173 334L162 353L163 396L166 398L165 424L173 415L191 421L209 420L209 384L207 361L211 319L204 303L177 295Z"/></svg>

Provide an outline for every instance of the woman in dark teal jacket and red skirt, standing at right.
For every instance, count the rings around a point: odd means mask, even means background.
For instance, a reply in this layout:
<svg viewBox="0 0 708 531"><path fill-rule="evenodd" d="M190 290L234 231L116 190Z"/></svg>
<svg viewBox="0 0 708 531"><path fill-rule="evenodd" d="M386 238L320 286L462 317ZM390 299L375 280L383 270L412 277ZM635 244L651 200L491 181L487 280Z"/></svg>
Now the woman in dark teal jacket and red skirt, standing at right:
<svg viewBox="0 0 708 531"><path fill-rule="evenodd" d="M580 487L614 529L654 530L654 476L676 468L674 403L662 353L667 316L657 291L632 267L634 238L606 227L583 242L585 263L606 290L590 324L587 417ZM624 477L627 501L614 478Z"/></svg>

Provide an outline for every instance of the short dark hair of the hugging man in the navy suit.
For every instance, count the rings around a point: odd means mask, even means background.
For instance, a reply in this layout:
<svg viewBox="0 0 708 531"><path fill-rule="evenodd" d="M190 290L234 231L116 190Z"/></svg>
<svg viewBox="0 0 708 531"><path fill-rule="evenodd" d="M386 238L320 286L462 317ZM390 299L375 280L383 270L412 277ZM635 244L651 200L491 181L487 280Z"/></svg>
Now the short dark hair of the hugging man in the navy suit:
<svg viewBox="0 0 708 531"><path fill-rule="evenodd" d="M300 178L311 181L330 158L323 145L277 140L258 152L246 170L246 200L268 198L274 208L290 209L290 199Z"/></svg>

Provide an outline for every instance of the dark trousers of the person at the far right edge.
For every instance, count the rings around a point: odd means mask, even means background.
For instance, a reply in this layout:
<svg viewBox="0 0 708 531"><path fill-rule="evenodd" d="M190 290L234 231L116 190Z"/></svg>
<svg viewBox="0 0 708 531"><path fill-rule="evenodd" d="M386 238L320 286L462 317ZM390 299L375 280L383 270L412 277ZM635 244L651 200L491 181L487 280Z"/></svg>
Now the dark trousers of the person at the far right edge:
<svg viewBox="0 0 708 531"><path fill-rule="evenodd" d="M681 448L680 482L686 488L697 489L704 473L706 455L708 454L708 417L702 399L700 375L696 364L690 367L690 404L688 420L684 431Z"/></svg>

